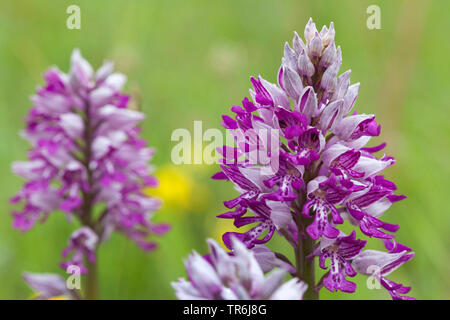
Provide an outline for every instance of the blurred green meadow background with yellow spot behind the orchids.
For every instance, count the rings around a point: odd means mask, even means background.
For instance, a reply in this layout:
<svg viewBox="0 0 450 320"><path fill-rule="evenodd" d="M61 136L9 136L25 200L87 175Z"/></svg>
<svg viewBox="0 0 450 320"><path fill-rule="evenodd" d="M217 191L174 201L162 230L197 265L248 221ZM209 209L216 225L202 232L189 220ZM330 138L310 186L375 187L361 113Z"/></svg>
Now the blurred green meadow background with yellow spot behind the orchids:
<svg viewBox="0 0 450 320"><path fill-rule="evenodd" d="M66 28L67 6L81 8L81 30ZM381 30L366 27L366 8L381 8ZM156 220L172 231L146 254L115 234L102 246L101 293L109 299L172 299L169 283L184 277L182 259L205 252L205 238L219 238L230 224L215 215L235 192L209 179L217 165L174 166L170 141L176 128L219 128L220 116L248 94L249 76L275 81L285 41L335 22L343 68L361 82L356 109L376 113L387 153L397 164L386 175L408 199L385 215L401 224L398 239L415 258L392 274L420 299L450 298L450 169L448 14L441 1L7 1L0 2L0 298L24 299L31 291L21 272L58 272L60 252L75 225L61 212L27 234L11 228L8 199L22 181L10 172L28 145L19 130L29 96L50 65L68 70L72 49L97 68L104 59L128 76L130 93L147 114L144 137L156 147L165 204ZM376 241L376 240L374 240ZM274 240L272 246L283 244ZM356 277L357 294L326 299L387 299Z"/></svg>

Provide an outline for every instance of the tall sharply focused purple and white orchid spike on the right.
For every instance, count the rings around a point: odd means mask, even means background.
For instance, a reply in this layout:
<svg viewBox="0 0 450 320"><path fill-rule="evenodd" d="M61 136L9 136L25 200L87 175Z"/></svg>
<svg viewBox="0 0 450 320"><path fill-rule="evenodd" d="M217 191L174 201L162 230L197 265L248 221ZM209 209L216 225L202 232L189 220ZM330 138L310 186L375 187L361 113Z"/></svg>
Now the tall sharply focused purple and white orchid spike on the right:
<svg viewBox="0 0 450 320"><path fill-rule="evenodd" d="M231 249L238 238L251 249L276 233L284 237L295 257L285 262L308 285L305 299L318 299L323 287L354 292L348 278L375 269L394 299L409 299L409 287L385 276L414 253L394 240L399 226L381 220L405 196L395 195L395 184L380 175L395 163L374 155L385 144L366 146L380 126L375 115L352 112L359 83L350 85L350 70L338 76L342 52L334 36L332 23L319 32L310 20L304 41L295 33L293 46L285 44L278 85L252 77L252 101L245 98L242 107L231 108L233 117L223 116L235 144L219 149L222 170L213 178L231 181L239 196L224 202L228 210L219 217L250 227L224 233L223 241ZM381 239L389 253L364 251L367 241L355 230L346 235L339 229L344 220ZM327 270L317 282L315 257Z"/></svg>

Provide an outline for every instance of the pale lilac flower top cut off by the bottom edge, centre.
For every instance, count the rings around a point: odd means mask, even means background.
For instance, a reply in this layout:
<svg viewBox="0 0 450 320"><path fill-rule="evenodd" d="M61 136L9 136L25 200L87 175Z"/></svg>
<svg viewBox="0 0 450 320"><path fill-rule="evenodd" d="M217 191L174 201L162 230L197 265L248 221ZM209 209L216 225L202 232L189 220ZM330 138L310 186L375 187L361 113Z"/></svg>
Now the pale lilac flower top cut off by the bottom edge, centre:
<svg viewBox="0 0 450 320"><path fill-rule="evenodd" d="M283 283L287 271L273 269L275 256L258 261L260 251L251 251L232 239L233 252L227 253L208 240L210 254L192 253L185 262L189 281L179 279L172 286L181 300L300 300L306 285L298 279ZM264 251L261 252L265 254ZM269 260L269 261L268 261ZM263 270L265 269L265 270ZM271 271L268 275L265 272Z"/></svg>

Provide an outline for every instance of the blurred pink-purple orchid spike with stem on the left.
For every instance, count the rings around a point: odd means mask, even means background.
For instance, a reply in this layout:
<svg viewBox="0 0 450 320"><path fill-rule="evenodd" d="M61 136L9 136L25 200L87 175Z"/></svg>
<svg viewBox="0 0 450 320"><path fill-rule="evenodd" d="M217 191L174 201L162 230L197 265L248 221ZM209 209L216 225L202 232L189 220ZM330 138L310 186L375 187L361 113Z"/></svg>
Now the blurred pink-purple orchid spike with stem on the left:
<svg viewBox="0 0 450 320"><path fill-rule="evenodd" d="M152 250L149 236L169 229L151 222L160 203L142 192L157 185L148 165L154 151L139 138L144 115L127 108L126 78L113 73L112 63L94 73L74 50L69 74L51 68L45 80L22 132L32 146L29 160L12 166L27 180L11 199L23 204L13 212L13 226L25 232L56 210L77 218L82 227L70 237L61 265L87 273L86 298L98 298L96 252L113 231Z"/></svg>

